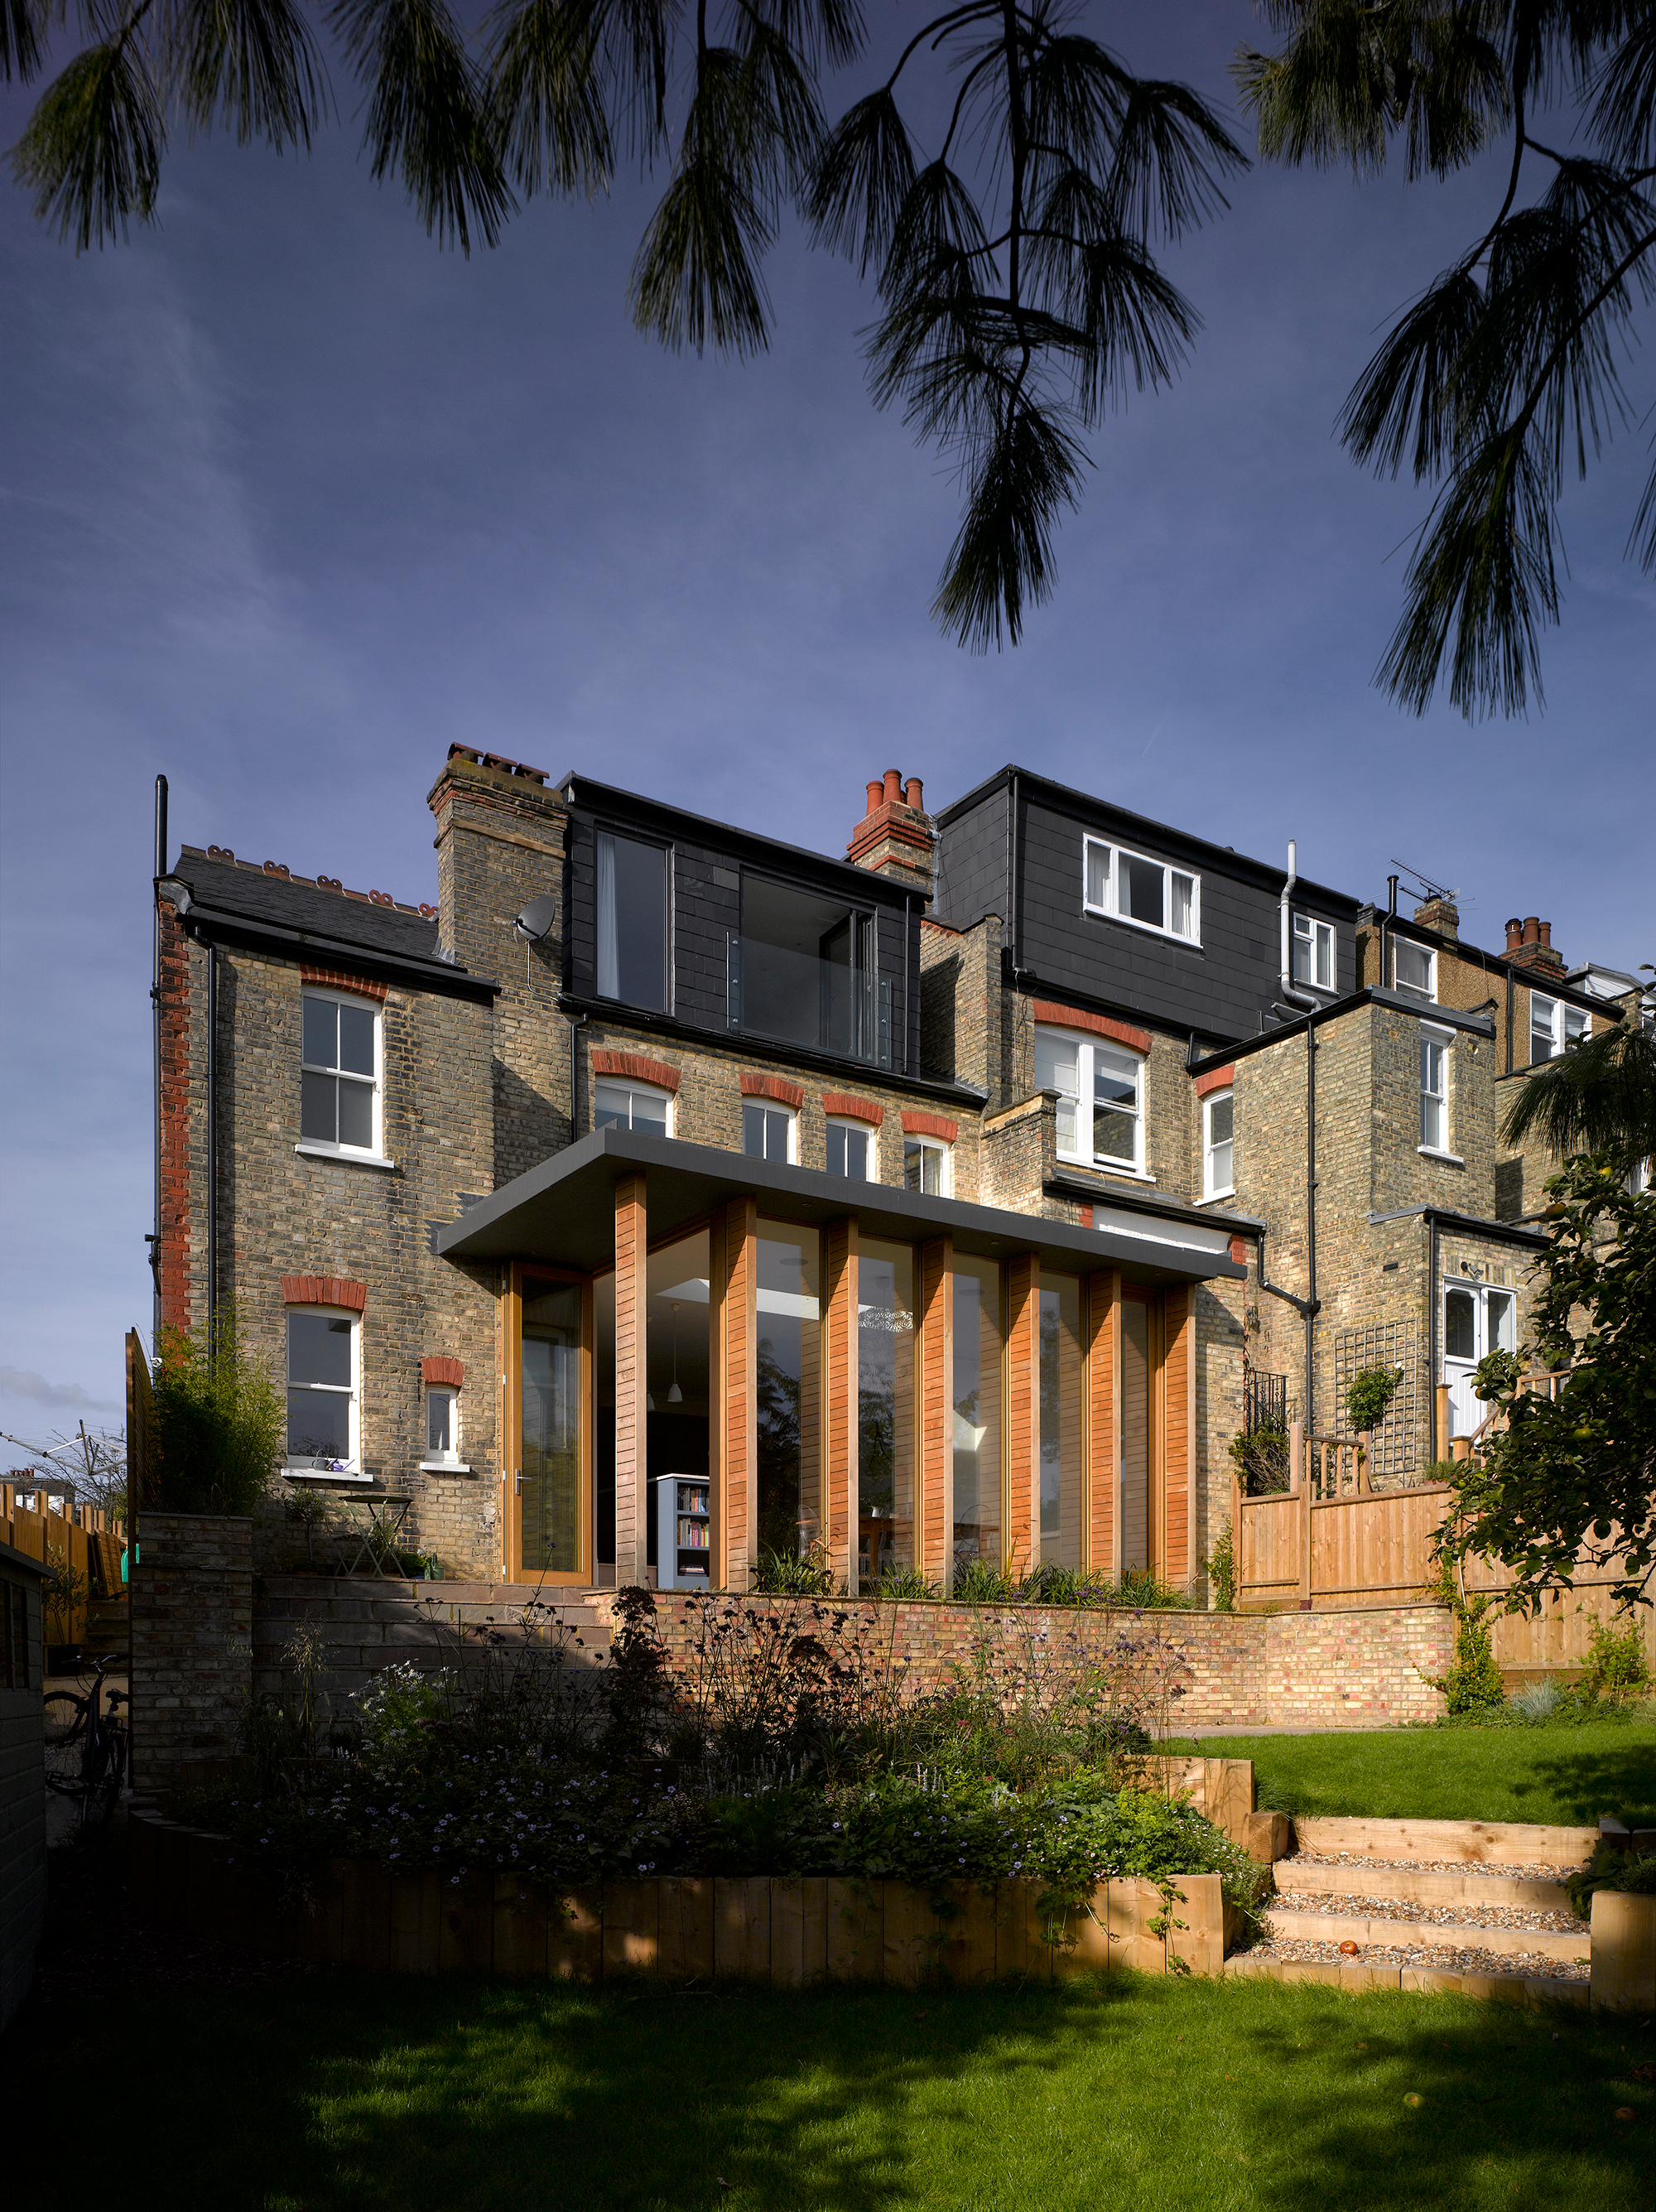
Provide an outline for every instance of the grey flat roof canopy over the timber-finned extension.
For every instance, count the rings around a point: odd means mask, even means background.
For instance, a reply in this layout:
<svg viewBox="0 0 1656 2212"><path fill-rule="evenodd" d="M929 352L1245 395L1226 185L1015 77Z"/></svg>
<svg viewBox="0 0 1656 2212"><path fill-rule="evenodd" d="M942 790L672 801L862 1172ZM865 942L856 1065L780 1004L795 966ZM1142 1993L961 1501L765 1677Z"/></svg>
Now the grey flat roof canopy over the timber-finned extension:
<svg viewBox="0 0 1656 2212"><path fill-rule="evenodd" d="M539 1259L595 1274L615 1261L615 1186L637 1172L648 1179L652 1245L688 1232L727 1199L752 1192L772 1221L822 1228L853 1214L860 1234L895 1243L918 1243L946 1230L957 1252L979 1259L1037 1252L1041 1265L1059 1274L1121 1267L1130 1283L1150 1285L1247 1276L1229 1256L1229 1230L1220 1223L1209 1228L1152 1214L1143 1230L1117 1223L1083 1230L1039 1214L929 1199L891 1183L853 1183L816 1168L789 1168L630 1128L601 1128L544 1159L438 1230L436 1248L442 1259Z"/></svg>

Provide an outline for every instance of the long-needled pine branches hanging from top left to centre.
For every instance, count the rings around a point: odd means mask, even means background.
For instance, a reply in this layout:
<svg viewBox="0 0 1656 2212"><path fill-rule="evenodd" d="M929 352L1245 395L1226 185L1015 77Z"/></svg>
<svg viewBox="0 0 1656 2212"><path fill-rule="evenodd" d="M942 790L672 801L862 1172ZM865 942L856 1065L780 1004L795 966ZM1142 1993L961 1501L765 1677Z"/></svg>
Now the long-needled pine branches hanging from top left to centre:
<svg viewBox="0 0 1656 2212"><path fill-rule="evenodd" d="M0 0L0 73L46 66L57 0ZM933 613L1017 644L1052 591L1086 436L1165 385L1198 316L1156 248L1225 206L1240 146L1189 86L1136 77L1055 0L964 0L915 22L895 69L829 128L822 80L858 62L858 0L500 0L471 35L444 0L77 0L71 55L13 148L77 250L150 221L172 133L310 146L332 42L363 153L440 243L493 246L520 199L665 168L632 265L668 347L769 343L763 261L785 210L873 276L873 398L957 469L960 533ZM955 80L931 148L900 93Z"/></svg>

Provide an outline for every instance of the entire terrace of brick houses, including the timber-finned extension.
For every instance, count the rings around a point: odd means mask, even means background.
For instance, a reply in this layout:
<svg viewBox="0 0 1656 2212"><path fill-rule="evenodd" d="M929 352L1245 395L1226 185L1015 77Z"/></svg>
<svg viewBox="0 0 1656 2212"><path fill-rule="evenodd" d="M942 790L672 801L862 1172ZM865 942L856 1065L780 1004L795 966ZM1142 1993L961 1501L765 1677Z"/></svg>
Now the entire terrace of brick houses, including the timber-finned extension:
<svg viewBox="0 0 1656 2212"><path fill-rule="evenodd" d="M1539 933L1495 989L1453 909L1019 768L887 772L845 858L462 745L429 803L436 905L157 880L155 1254L285 1371L290 1489L378 1478L447 1571L1183 1584L1262 1407L1402 1365L1408 1480L1521 1329L1510 1040L1605 1020Z"/></svg>

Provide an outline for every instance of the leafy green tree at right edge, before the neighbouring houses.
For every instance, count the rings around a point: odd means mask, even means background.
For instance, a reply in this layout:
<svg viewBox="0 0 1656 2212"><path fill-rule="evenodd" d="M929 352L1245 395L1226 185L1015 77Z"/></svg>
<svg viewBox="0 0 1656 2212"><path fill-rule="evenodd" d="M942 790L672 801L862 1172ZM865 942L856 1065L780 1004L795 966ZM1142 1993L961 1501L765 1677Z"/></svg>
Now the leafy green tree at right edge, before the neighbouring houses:
<svg viewBox="0 0 1656 2212"><path fill-rule="evenodd" d="M1523 1391L1512 1369L1481 1376L1506 1429L1481 1467L1453 1469L1444 1553L1501 1559L1530 1608L1568 1588L1579 1559L1614 1566L1634 1601L1656 1571L1656 1192L1632 1192L1621 1164L1572 1159L1548 1197L1534 1349L1570 1374L1557 1398Z"/></svg>

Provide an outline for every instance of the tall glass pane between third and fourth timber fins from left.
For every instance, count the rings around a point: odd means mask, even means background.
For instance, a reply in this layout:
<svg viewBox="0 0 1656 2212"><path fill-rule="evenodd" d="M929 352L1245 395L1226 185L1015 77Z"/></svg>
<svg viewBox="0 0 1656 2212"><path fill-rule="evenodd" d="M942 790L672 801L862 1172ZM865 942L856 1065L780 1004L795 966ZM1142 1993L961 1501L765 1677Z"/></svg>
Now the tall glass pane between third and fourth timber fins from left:
<svg viewBox="0 0 1656 2212"><path fill-rule="evenodd" d="M915 1564L913 1252L858 1252L858 1584Z"/></svg>

